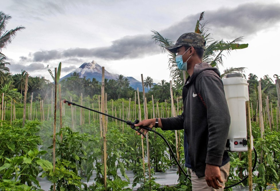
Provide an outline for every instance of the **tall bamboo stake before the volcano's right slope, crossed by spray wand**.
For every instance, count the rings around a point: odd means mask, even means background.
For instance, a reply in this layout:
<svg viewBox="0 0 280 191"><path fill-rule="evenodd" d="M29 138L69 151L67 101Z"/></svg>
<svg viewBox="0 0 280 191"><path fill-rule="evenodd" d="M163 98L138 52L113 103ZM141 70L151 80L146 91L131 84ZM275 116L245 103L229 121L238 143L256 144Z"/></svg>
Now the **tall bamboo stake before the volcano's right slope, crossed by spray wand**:
<svg viewBox="0 0 280 191"><path fill-rule="evenodd" d="M101 81L101 112L105 112L105 95L104 95L104 67L102 67L102 81ZM107 153L106 153L106 126L105 126L105 116L102 115L102 130L103 130L103 162L104 162L104 187L107 187Z"/></svg>

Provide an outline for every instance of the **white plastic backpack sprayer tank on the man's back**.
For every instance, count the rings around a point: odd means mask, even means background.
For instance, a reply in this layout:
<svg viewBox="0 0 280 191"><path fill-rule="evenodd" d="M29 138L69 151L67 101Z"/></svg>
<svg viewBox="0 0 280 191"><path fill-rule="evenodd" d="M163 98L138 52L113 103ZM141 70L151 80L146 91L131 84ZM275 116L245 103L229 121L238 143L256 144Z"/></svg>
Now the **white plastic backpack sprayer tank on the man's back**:
<svg viewBox="0 0 280 191"><path fill-rule="evenodd" d="M230 112L230 130L226 150L231 152L246 152L247 123L245 102L249 101L248 83L241 73L228 74L222 79L228 109ZM253 150L253 141L251 142Z"/></svg>

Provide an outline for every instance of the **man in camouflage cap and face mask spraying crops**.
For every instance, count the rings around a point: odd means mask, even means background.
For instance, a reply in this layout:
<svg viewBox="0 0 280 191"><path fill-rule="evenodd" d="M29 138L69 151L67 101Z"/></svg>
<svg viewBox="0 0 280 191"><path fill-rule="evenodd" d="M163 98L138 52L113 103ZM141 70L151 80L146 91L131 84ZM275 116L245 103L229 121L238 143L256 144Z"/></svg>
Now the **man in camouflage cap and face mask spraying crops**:
<svg viewBox="0 0 280 191"><path fill-rule="evenodd" d="M192 189L223 190L229 173L230 158L224 149L230 115L220 72L202 62L205 40L198 33L185 33L166 49L177 53L178 68L189 74L182 91L184 112L172 118L143 120L135 126L184 129L185 166Z"/></svg>

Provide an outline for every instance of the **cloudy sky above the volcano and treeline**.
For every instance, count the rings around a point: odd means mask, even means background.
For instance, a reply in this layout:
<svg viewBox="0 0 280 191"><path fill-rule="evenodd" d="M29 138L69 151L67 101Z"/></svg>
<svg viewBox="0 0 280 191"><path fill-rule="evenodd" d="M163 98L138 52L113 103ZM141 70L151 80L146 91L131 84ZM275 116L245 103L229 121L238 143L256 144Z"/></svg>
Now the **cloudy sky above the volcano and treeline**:
<svg viewBox="0 0 280 191"><path fill-rule="evenodd" d="M3 1L3 2L1 2ZM200 13L215 40L232 41L243 36L246 49L225 53L224 68L246 67L260 79L280 75L279 0L0 0L1 10L12 19L6 29L24 26L12 43L2 49L12 74L52 79L62 62L61 76L94 60L110 73L141 74L154 83L169 81L167 53L155 44L151 30L174 42L194 32ZM220 72L223 73L223 67Z"/></svg>

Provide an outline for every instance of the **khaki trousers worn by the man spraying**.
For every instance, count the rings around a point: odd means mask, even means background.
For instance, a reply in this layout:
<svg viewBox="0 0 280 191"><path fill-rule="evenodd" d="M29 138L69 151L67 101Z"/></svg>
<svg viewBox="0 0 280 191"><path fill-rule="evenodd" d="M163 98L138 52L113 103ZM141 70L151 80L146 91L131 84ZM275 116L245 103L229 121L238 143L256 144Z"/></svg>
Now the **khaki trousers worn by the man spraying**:
<svg viewBox="0 0 280 191"><path fill-rule="evenodd" d="M212 187L209 187L207 185L207 182L205 180L205 176L201 177L201 178L198 178L196 176L196 174L194 172L192 172L192 170L190 168L188 168L188 173L189 175L191 176L191 180L192 180L192 190L193 191L196 191L196 190L205 190L205 191L210 191L210 190L224 190L224 183L226 182L227 178L228 178L228 174L229 174L229 167L230 167L230 164L229 162L227 164L225 164L224 166L221 166L220 167L220 172L221 172L221 176L222 176L222 179L224 180L223 183L219 183L223 186L222 188L219 188L219 189L214 189Z"/></svg>

